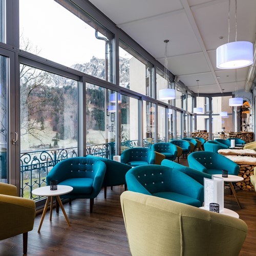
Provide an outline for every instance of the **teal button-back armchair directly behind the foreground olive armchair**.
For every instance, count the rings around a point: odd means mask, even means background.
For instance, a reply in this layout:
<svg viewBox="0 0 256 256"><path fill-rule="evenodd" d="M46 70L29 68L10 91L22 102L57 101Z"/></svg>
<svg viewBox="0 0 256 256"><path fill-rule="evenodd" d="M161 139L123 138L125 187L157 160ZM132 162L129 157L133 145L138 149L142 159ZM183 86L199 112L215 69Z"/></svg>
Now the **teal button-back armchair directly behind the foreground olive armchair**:
<svg viewBox="0 0 256 256"><path fill-rule="evenodd" d="M130 169L125 178L130 191L172 198L197 207L203 204L203 185L179 170L163 165L141 165Z"/></svg>

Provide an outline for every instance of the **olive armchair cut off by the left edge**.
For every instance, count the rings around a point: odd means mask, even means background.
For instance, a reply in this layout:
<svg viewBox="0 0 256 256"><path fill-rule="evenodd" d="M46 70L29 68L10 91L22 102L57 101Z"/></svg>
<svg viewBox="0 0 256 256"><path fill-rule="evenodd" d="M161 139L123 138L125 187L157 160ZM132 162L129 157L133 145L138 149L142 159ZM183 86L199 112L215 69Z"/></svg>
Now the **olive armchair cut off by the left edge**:
<svg viewBox="0 0 256 256"><path fill-rule="evenodd" d="M23 234L23 253L27 253L28 231L34 226L35 202L17 197L17 188L0 183L0 240Z"/></svg>

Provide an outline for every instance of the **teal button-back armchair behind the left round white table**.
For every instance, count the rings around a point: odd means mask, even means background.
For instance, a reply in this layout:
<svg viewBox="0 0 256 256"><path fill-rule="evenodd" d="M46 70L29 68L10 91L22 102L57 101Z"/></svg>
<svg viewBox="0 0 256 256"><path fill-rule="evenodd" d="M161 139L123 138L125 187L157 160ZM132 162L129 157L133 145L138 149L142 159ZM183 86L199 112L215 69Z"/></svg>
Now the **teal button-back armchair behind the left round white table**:
<svg viewBox="0 0 256 256"><path fill-rule="evenodd" d="M73 157L57 163L46 177L47 185L57 180L58 185L72 186L73 190L60 198L90 199L90 212L93 211L94 198L100 193L105 176L106 165L88 157Z"/></svg>

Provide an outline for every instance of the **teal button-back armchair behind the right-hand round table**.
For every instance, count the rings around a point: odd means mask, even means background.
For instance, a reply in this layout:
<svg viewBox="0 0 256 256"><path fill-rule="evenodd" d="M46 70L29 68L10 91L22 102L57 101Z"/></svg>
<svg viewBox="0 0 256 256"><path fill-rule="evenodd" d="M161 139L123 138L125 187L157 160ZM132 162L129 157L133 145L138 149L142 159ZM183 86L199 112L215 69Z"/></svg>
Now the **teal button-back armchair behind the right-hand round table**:
<svg viewBox="0 0 256 256"><path fill-rule="evenodd" d="M214 152L193 152L187 157L190 168L207 174L222 174L222 170L228 170L230 175L238 175L239 165L230 159Z"/></svg>

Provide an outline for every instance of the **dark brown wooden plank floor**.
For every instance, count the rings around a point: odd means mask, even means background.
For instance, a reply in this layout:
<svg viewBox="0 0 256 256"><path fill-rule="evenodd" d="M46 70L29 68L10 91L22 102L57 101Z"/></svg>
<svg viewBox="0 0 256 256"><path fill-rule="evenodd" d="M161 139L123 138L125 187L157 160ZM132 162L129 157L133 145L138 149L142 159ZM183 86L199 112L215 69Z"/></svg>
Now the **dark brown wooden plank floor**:
<svg viewBox="0 0 256 256"><path fill-rule="evenodd" d="M181 162L187 165L186 160ZM53 211L51 222L49 211L47 211L41 231L38 233L41 218L41 215L38 215L35 218L34 229L29 232L27 255L131 255L119 199L123 190L123 186L116 186L113 190L108 188L107 199L104 199L102 190L95 199L92 214L90 214L88 199L74 200L72 205L65 204L64 207L71 223L70 227L61 209L59 214ZM239 190L237 194L242 209L239 209L228 189L225 189L224 206L236 211L240 219L248 225L247 238L239 255L255 256L256 193ZM23 255L22 251L22 235L0 241L1 256Z"/></svg>

